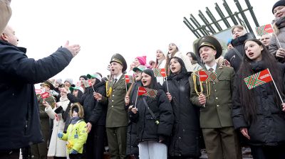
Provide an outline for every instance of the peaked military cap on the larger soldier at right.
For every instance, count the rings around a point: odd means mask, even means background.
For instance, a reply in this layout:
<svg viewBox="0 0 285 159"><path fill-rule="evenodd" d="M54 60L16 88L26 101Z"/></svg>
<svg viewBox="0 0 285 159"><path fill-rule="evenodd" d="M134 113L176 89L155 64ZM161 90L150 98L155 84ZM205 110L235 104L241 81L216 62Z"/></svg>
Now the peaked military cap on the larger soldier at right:
<svg viewBox="0 0 285 159"><path fill-rule="evenodd" d="M222 55L222 45L219 43L217 38L214 38L214 36L207 35L207 36L203 36L202 38L200 38L198 40L197 51L196 51L197 55L199 55L199 50L203 46L208 46L208 47L216 50L217 51L217 53L215 55L216 59L219 58Z"/></svg>

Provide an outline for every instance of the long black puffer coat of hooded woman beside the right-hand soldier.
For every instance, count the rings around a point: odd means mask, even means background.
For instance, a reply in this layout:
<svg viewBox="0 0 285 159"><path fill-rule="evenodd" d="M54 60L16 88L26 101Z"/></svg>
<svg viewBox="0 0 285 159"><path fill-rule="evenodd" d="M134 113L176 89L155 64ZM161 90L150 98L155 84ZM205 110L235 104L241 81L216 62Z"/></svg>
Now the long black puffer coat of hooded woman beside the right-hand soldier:
<svg viewBox="0 0 285 159"><path fill-rule="evenodd" d="M180 73L167 78L168 90L172 96L172 109L175 122L170 137L171 156L198 158L200 155L199 108L190 102L189 75ZM167 91L166 82L163 89Z"/></svg>

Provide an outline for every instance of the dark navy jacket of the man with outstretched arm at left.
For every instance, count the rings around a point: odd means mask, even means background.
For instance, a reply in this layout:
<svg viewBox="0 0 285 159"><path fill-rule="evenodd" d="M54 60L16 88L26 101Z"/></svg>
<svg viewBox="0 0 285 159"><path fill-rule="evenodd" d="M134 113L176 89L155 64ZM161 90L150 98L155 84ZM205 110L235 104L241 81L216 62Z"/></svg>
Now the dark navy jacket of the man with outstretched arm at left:
<svg viewBox="0 0 285 159"><path fill-rule="evenodd" d="M24 50L23 50L24 51ZM39 60L0 40L0 150L41 143L38 101L33 84L61 72L73 58L66 48Z"/></svg>

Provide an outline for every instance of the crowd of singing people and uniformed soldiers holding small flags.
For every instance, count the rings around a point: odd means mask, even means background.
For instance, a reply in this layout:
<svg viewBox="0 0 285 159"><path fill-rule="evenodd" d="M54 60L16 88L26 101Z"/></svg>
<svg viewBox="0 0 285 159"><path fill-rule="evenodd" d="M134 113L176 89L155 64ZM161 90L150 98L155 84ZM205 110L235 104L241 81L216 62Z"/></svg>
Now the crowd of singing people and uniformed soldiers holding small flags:
<svg viewBox="0 0 285 159"><path fill-rule="evenodd" d="M257 39L233 26L224 57L207 35L194 53L170 43L155 60L135 57L129 70L114 54L108 77L94 72L78 82L51 77L80 45L28 58L6 26L10 2L0 1L0 158L19 158L21 149L22 158L195 159L205 148L208 158L241 159L242 146L253 158L285 158L284 0L272 8L274 35ZM157 76L163 69L167 77ZM245 78L266 69L273 82L249 89Z"/></svg>

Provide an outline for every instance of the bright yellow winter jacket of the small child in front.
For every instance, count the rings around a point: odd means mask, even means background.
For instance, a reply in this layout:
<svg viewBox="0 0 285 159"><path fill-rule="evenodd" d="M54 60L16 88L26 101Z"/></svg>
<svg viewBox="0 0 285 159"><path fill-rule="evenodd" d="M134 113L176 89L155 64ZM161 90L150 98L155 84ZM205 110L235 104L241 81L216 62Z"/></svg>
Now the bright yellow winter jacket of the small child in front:
<svg viewBox="0 0 285 159"><path fill-rule="evenodd" d="M63 133L61 138L66 142L68 154L71 150L76 150L78 153L83 153L83 145L86 143L88 133L86 132L86 122L83 119L78 120L76 124L69 124L67 132Z"/></svg>

